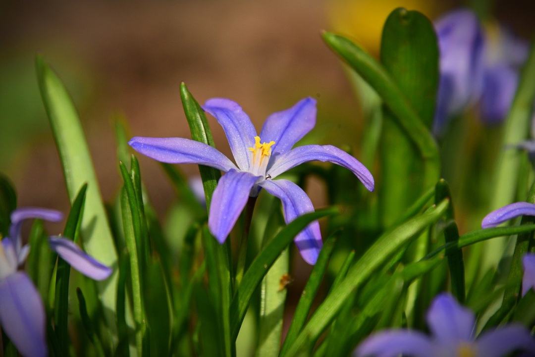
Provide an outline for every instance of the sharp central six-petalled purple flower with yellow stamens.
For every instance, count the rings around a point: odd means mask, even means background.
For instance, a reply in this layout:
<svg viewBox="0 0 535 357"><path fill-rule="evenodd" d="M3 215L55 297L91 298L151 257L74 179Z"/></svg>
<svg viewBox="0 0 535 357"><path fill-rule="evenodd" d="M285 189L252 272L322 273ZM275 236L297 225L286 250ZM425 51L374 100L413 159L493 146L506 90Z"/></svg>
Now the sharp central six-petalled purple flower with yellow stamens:
<svg viewBox="0 0 535 357"><path fill-rule="evenodd" d="M373 190L369 170L345 151L331 145L292 149L316 124L316 100L312 98L271 114L259 136L248 115L232 100L209 99L203 109L223 127L236 165L215 148L186 138L134 137L129 144L158 161L206 165L226 172L213 193L208 218L210 231L220 243L232 230L249 196L257 196L262 188L280 198L286 223L314 211L310 198L299 186L288 180L273 180L303 162L319 160L341 165L351 170L368 190ZM295 244L305 261L316 263L322 247L318 222L301 231Z"/></svg>

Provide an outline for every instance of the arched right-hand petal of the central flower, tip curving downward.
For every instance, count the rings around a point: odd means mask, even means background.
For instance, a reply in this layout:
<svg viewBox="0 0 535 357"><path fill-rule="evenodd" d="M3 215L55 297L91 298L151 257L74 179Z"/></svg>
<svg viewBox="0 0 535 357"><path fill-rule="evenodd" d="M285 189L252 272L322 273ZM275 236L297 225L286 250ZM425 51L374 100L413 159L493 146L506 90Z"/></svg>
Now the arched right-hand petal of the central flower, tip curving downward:
<svg viewBox="0 0 535 357"><path fill-rule="evenodd" d="M303 162L314 160L329 161L349 169L361 180L366 189L373 191L375 183L370 171L353 156L332 145L298 146L277 157L268 168L268 174L274 178Z"/></svg>

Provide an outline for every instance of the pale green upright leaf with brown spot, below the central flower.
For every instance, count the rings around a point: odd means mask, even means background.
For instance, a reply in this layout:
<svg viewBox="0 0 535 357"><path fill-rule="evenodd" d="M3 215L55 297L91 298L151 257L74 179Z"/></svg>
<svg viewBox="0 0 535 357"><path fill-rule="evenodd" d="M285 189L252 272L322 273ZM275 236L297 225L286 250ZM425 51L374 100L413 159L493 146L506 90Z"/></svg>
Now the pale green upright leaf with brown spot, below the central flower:
<svg viewBox="0 0 535 357"><path fill-rule="evenodd" d="M266 226L264 246L284 227L284 217L280 209L273 209ZM286 286L281 285L288 277L289 249L279 255L264 276L260 288L260 317L258 321L257 357L277 357L282 338L282 320L286 301Z"/></svg>

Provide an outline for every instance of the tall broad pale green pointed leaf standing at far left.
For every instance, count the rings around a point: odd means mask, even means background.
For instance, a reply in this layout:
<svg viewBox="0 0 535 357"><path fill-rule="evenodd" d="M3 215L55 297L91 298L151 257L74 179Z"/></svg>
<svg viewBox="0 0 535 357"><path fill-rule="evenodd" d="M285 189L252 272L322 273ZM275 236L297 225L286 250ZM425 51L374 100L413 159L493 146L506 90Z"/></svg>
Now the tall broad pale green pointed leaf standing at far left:
<svg viewBox="0 0 535 357"><path fill-rule="evenodd" d="M113 245L108 218L78 113L62 81L44 63L41 56L36 57L36 68L41 97L59 151L71 202L76 198L82 185L86 183L88 185L81 227L84 246L88 254L103 264L110 267L117 266L117 252ZM105 282L97 283L106 322L112 333L116 330L114 315L117 276L117 271L114 269Z"/></svg>

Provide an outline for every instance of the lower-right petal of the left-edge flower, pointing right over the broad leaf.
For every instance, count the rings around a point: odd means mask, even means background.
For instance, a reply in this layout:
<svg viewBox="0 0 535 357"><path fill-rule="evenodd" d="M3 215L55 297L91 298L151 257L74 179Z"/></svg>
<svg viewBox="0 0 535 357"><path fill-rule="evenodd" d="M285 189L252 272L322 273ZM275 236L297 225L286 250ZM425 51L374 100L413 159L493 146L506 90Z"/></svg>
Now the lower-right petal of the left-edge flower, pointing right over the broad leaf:
<svg viewBox="0 0 535 357"><path fill-rule="evenodd" d="M104 280L110 276L112 269L95 258L84 253L72 240L49 237L50 248L74 269L94 280Z"/></svg>

